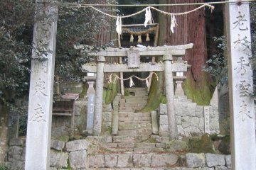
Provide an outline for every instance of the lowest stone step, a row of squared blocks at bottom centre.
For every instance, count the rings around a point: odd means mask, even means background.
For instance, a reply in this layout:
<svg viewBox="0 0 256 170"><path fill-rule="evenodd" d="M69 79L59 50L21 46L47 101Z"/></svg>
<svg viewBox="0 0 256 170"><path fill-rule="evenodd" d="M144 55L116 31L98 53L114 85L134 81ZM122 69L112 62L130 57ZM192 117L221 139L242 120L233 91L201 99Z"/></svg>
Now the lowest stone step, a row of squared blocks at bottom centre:
<svg viewBox="0 0 256 170"><path fill-rule="evenodd" d="M97 154L89 156L89 167L117 169L171 168L178 162L177 154L125 153Z"/></svg>

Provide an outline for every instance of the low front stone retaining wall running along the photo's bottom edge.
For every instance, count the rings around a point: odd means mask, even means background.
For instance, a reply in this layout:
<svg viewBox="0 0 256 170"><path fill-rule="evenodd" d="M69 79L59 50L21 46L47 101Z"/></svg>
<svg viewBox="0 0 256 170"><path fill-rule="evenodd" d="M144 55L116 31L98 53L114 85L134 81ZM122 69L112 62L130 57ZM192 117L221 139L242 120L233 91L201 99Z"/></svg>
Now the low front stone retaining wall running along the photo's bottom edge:
<svg viewBox="0 0 256 170"><path fill-rule="evenodd" d="M173 170L228 170L231 169L230 155L223 154L157 154L157 153L124 153L114 154L99 152L97 142L111 142L111 137L87 137L86 140L63 142L51 141L50 169L169 169ZM96 143L97 143L96 142ZM25 139L12 139L6 154L6 165L10 170L23 170L25 161ZM94 145L92 145L92 143ZM174 168L171 168L174 167Z"/></svg>

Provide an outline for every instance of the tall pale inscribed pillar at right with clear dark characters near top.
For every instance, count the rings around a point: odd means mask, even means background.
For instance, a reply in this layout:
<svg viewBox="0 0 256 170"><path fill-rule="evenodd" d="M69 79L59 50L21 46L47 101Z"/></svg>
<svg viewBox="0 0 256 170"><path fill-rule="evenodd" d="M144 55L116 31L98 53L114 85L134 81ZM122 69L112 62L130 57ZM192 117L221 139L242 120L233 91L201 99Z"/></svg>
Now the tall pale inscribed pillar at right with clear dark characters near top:
<svg viewBox="0 0 256 170"><path fill-rule="evenodd" d="M256 154L249 3L233 2L226 10L232 169L252 170Z"/></svg>

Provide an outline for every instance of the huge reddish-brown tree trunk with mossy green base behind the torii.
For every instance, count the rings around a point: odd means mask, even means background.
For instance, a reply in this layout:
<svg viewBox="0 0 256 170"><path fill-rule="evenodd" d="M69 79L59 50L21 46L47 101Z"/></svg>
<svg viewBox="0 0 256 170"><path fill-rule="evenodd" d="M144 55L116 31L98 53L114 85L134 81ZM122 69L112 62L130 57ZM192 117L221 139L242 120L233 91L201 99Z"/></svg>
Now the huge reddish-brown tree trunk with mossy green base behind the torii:
<svg viewBox="0 0 256 170"><path fill-rule="evenodd" d="M203 0L166 0L166 4L181 4L181 3L200 3ZM196 6L168 6L167 12L181 13L191 11ZM166 45L183 45L193 43L193 49L187 50L183 60L191 64L191 69L186 73L186 81L183 83L183 89L188 98L193 99L199 105L208 105L213 94L211 88L210 76L206 72L202 72L206 66L207 46L206 46L206 16L205 9L202 8L187 15L176 16L178 26L175 28L175 33L170 33L171 19L169 16L162 18L165 20L164 33L167 35L161 42L166 42ZM161 27L161 26L160 26ZM163 37L161 37L163 38Z"/></svg>

